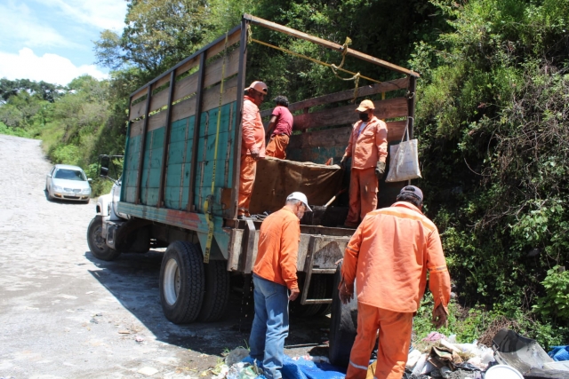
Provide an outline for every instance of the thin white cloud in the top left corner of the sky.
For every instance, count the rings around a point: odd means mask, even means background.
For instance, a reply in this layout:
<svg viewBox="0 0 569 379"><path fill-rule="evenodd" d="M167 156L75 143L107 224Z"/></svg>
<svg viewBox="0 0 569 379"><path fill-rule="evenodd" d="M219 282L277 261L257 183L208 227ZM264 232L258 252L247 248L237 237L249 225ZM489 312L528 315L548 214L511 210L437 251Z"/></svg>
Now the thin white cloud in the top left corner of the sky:
<svg viewBox="0 0 569 379"><path fill-rule="evenodd" d="M37 20L26 4L15 4L14 2L0 4L0 14L2 14L3 36L0 36L2 44L20 41L31 47L80 46L61 36L54 28Z"/></svg>

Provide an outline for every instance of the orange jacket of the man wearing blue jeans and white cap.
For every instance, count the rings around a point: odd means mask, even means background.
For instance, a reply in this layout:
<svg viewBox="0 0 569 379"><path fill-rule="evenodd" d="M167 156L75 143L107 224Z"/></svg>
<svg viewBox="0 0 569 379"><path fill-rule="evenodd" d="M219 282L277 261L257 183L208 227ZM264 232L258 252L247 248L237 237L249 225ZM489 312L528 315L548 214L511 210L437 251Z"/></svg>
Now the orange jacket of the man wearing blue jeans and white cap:
<svg viewBox="0 0 569 379"><path fill-rule="evenodd" d="M296 262L301 241L301 220L291 209L269 215L260 225L257 258L252 272L263 279L299 288Z"/></svg>

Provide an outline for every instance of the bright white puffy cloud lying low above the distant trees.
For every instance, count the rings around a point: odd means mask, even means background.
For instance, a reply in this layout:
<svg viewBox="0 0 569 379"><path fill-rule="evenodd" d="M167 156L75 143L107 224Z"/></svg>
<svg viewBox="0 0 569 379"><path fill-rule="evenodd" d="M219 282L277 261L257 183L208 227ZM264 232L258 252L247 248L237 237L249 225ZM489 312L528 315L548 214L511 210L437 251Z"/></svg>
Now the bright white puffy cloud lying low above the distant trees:
<svg viewBox="0 0 569 379"><path fill-rule="evenodd" d="M18 54L0 51L0 77L10 80L30 79L37 82L66 85L80 75L92 75L97 79L106 79L107 74L94 65L76 67L71 60L57 54L46 53L41 57L25 47Z"/></svg>

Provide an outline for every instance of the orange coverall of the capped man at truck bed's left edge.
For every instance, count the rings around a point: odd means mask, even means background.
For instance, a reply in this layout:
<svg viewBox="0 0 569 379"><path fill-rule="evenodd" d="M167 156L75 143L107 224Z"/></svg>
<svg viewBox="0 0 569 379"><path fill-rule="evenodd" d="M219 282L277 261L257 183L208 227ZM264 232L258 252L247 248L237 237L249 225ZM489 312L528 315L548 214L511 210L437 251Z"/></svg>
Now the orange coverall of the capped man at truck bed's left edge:
<svg viewBox="0 0 569 379"><path fill-rule="evenodd" d="M252 186L255 181L257 162L251 157L251 152L259 152L259 157L265 157L265 128L260 119L259 107L249 96L244 97L242 119L241 171L239 175L239 199L237 214L250 216Z"/></svg>

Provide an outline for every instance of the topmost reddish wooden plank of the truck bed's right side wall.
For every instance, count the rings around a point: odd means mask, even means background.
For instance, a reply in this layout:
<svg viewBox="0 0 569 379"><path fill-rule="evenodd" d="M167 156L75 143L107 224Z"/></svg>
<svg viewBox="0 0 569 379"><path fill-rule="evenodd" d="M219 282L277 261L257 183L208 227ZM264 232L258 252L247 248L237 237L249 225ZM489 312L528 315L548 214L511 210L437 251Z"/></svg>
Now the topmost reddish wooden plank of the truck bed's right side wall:
<svg viewBox="0 0 569 379"><path fill-rule="evenodd" d="M392 80L389 82L383 82L379 84L365 85L357 89L357 97L364 98L365 96L371 96L376 93L403 90L407 88L408 85L409 85L408 77ZM288 106L288 109L291 112L294 112L300 109L317 107L317 106L322 106L324 104L334 103L343 100L350 100L350 99L354 99L354 90L335 92L329 95L320 96L318 98L302 100L297 103L290 104ZM273 111L272 109L266 109L260 113L260 116L268 117L272 111Z"/></svg>

